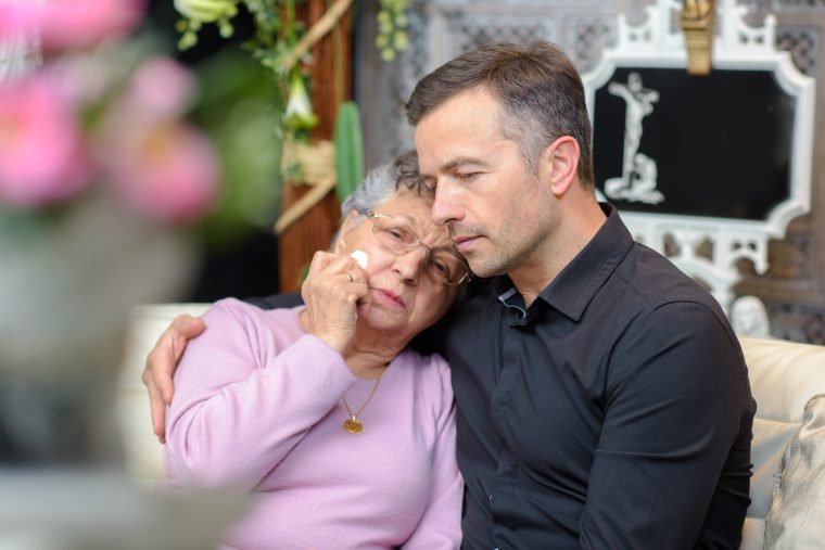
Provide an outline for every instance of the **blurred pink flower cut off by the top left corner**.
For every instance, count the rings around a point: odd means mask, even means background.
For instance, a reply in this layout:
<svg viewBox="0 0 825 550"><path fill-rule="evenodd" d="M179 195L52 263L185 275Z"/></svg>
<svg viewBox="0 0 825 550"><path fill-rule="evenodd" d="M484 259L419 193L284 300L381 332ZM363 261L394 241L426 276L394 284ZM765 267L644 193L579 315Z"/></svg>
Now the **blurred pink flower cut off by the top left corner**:
<svg viewBox="0 0 825 550"><path fill-rule="evenodd" d="M143 0L0 0L0 38L39 35L46 50L84 48L140 23Z"/></svg>

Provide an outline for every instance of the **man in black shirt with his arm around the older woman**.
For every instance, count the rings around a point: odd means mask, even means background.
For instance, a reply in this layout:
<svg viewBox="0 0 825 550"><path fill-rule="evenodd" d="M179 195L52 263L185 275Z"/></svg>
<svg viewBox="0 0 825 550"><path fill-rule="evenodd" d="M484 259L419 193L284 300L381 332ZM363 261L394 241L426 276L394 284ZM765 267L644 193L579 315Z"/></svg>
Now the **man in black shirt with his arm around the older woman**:
<svg viewBox="0 0 825 550"><path fill-rule="evenodd" d="M596 201L570 60L480 48L424 77L407 116L433 220L488 278L429 341L452 368L464 547L737 548L756 410L738 342ZM200 330L176 323L144 373L155 395Z"/></svg>

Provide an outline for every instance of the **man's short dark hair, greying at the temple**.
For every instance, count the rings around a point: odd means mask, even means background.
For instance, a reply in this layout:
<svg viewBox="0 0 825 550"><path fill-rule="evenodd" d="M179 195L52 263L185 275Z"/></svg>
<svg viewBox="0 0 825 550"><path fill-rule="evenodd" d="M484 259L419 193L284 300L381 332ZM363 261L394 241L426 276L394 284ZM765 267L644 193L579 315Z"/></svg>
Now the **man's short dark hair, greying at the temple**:
<svg viewBox="0 0 825 550"><path fill-rule="evenodd" d="M500 102L499 131L519 144L528 169L535 172L544 150L556 139L571 136L581 150L579 179L585 189L593 189L584 87L559 47L544 41L525 48L499 43L461 54L419 80L406 105L407 119L417 126L453 97L477 88Z"/></svg>

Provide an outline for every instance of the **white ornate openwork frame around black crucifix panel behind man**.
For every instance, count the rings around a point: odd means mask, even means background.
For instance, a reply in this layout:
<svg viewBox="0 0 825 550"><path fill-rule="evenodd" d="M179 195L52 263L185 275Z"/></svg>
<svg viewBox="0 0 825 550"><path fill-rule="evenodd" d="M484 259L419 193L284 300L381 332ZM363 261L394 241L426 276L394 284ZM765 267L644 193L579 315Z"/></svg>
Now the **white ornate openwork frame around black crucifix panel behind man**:
<svg viewBox="0 0 825 550"><path fill-rule="evenodd" d="M647 20L637 26L631 26L623 14L619 15L617 46L606 49L599 65L583 75L592 119L595 92L610 79L615 68L687 67L684 35L678 27L682 7L680 0L658 0L655 5L646 8ZM790 196L761 221L621 213L637 241L663 254L668 244L671 245L669 248L675 248L669 258L703 283L725 311L732 308L733 286L740 278L737 261L747 258L758 272L764 272L769 240L782 239L790 220L811 208L814 79L796 68L788 52L775 49L775 17L769 15L761 28L753 28L745 23L747 11L736 0L720 0L712 67L772 71L779 86L795 98ZM700 247L707 244L710 244L711 254L700 254Z"/></svg>

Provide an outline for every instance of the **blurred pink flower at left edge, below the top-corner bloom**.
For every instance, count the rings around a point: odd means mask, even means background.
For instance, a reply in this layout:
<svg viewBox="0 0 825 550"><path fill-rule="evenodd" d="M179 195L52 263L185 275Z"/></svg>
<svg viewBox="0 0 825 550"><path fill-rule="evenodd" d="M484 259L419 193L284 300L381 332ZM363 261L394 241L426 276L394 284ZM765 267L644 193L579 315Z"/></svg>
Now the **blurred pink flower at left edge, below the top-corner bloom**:
<svg viewBox="0 0 825 550"><path fill-rule="evenodd" d="M91 163L65 99L41 74L0 85L0 203L37 206L84 188Z"/></svg>

